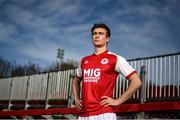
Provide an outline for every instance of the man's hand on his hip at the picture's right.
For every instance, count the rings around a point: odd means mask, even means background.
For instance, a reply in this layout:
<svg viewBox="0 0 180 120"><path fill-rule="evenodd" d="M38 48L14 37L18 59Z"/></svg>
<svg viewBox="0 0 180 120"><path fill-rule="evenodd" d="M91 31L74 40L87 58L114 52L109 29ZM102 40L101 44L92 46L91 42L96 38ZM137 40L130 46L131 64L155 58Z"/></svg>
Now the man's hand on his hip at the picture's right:
<svg viewBox="0 0 180 120"><path fill-rule="evenodd" d="M119 101L117 99L113 99L113 98L108 97L108 96L102 96L101 98L103 100L100 102L100 104L103 105L104 107L118 106L119 105Z"/></svg>

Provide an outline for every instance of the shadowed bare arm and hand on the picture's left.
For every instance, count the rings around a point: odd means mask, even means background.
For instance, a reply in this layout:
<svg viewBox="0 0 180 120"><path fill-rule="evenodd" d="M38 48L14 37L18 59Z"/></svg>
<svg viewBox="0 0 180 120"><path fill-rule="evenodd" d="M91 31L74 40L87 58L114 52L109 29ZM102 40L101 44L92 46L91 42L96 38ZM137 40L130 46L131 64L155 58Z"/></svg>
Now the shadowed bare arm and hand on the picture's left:
<svg viewBox="0 0 180 120"><path fill-rule="evenodd" d="M79 111L82 110L82 101L80 99L80 83L81 83L81 79L76 76L73 79L73 94L74 94L75 106Z"/></svg>

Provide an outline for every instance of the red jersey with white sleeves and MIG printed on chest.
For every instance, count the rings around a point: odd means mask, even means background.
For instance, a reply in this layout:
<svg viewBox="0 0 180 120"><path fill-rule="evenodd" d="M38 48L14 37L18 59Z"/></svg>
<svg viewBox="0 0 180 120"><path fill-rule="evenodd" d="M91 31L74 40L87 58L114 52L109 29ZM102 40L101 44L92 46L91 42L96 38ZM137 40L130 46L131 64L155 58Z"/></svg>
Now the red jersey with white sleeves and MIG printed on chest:
<svg viewBox="0 0 180 120"><path fill-rule="evenodd" d="M113 96L113 88L118 74L126 79L136 73L125 58L105 52L86 56L77 69L77 77L82 79L82 104L80 116L93 116L113 112L113 107L100 105L102 96Z"/></svg>

